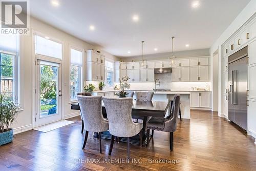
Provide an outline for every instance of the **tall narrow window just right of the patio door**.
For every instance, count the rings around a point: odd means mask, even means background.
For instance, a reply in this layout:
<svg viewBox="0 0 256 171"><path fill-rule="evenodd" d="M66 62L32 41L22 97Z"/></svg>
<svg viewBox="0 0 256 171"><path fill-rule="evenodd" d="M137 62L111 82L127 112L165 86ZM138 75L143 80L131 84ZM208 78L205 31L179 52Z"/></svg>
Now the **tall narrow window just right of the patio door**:
<svg viewBox="0 0 256 171"><path fill-rule="evenodd" d="M70 49L70 100L77 100L76 94L82 87L82 52Z"/></svg>

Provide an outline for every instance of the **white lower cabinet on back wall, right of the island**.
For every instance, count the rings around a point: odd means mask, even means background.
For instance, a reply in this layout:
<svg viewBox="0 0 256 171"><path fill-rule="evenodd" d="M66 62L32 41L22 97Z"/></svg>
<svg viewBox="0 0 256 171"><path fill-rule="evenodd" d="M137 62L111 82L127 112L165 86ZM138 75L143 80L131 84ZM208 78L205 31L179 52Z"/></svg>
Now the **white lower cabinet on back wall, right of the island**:
<svg viewBox="0 0 256 171"><path fill-rule="evenodd" d="M210 92L191 92L190 107L210 108Z"/></svg>

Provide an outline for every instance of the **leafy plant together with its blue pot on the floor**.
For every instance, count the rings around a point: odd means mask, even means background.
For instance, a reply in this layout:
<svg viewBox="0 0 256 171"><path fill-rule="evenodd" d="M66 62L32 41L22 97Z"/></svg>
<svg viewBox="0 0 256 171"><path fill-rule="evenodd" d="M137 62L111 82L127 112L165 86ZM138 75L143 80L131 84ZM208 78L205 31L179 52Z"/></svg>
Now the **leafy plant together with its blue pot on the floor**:
<svg viewBox="0 0 256 171"><path fill-rule="evenodd" d="M16 121L18 114L17 104L6 96L6 93L0 94L0 145L12 142L13 129L9 128L10 124Z"/></svg>

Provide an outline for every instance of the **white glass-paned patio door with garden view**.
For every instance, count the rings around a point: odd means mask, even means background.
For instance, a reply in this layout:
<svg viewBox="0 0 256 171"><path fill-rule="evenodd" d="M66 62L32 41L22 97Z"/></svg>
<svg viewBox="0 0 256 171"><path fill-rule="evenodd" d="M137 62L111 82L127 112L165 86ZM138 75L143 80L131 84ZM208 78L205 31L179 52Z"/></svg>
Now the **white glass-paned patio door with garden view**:
<svg viewBox="0 0 256 171"><path fill-rule="evenodd" d="M35 127L61 120L61 65L38 60Z"/></svg>

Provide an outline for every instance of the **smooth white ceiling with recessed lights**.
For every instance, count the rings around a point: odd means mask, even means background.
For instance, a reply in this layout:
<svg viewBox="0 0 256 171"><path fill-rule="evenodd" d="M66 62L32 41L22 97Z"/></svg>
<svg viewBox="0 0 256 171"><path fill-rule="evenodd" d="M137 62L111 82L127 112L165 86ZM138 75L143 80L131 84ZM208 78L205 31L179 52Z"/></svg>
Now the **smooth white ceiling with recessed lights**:
<svg viewBox="0 0 256 171"><path fill-rule="evenodd" d="M195 2L199 3L197 8L192 7ZM141 41L145 41L144 54L170 52L172 36L175 51L209 48L248 2L32 0L30 13L113 55L125 57L140 55ZM133 21L134 15L139 18L137 22ZM90 29L92 25L94 30Z"/></svg>

